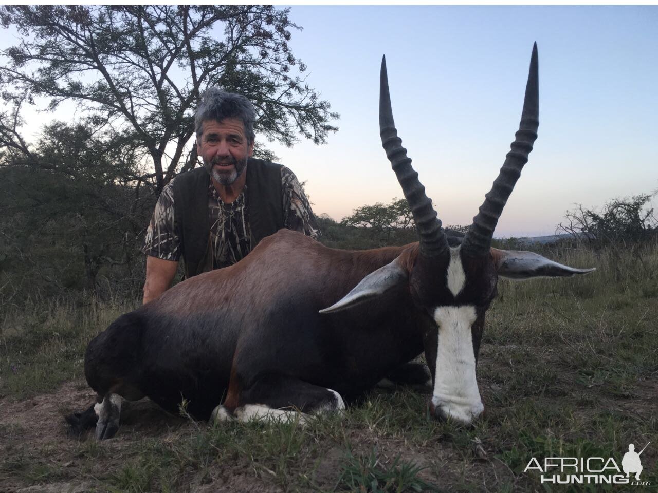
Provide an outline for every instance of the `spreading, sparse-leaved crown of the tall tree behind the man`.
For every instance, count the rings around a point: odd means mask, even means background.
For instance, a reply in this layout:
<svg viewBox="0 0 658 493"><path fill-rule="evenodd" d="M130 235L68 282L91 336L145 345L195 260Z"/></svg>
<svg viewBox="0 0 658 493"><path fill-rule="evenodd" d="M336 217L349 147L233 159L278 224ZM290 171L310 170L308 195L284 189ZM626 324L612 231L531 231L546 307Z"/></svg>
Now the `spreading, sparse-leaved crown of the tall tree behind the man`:
<svg viewBox="0 0 658 493"><path fill-rule="evenodd" d="M256 131L292 145L297 133L324 143L332 120L327 101L301 75L290 9L264 5L7 5L4 28L22 41L1 55L0 148L31 153L20 135L20 106L49 98L49 109L74 101L87 125L108 138L137 143L154 173L132 170L156 195L195 166L193 110L208 85L247 95ZM299 74L293 74L296 70ZM266 153L262 148L257 149Z"/></svg>

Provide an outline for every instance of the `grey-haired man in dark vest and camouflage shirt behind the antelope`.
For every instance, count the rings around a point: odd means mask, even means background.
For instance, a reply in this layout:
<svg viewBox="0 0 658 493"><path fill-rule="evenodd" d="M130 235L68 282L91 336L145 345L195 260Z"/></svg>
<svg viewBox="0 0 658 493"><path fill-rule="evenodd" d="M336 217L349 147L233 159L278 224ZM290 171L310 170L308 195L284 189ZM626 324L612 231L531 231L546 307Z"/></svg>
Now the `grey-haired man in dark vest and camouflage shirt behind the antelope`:
<svg viewBox="0 0 658 493"><path fill-rule="evenodd" d="M297 177L285 166L251 158L253 105L209 87L195 114L204 168L170 181L155 205L142 251L143 302L168 289L182 257L186 277L235 264L284 227L314 239L320 231Z"/></svg>

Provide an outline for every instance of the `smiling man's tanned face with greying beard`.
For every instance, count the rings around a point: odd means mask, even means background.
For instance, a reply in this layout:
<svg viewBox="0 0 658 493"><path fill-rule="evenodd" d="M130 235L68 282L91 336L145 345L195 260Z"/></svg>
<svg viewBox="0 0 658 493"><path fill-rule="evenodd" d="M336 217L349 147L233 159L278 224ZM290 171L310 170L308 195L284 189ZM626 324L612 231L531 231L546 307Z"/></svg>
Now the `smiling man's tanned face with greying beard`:
<svg viewBox="0 0 658 493"><path fill-rule="evenodd" d="M238 118L225 118L221 122L206 120L201 138L197 140L197 152L218 183L232 185L253 154L253 142L247 145L245 128Z"/></svg>

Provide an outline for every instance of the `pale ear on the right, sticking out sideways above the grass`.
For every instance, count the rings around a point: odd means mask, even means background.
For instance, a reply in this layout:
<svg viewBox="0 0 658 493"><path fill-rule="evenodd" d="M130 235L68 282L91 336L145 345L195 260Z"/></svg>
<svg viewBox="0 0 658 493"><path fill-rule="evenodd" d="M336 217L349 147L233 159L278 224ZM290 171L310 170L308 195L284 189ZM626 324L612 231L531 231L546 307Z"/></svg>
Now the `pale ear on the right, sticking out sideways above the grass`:
<svg viewBox="0 0 658 493"><path fill-rule="evenodd" d="M595 268L576 269L563 266L533 252L499 250L498 248L492 248L491 251L498 275L509 277L509 279L570 277L576 274L587 274L596 270Z"/></svg>

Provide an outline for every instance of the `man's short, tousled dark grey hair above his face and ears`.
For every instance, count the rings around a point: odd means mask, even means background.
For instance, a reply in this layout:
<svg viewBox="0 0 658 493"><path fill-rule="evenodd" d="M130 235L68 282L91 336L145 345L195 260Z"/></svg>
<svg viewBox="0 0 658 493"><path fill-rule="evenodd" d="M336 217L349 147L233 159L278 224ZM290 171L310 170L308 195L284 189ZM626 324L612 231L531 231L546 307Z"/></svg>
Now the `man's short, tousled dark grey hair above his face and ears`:
<svg viewBox="0 0 658 493"><path fill-rule="evenodd" d="M194 128L197 138L203 132L203 122L225 118L238 118L245 126L247 144L253 143L253 123L256 121L256 111L249 99L241 94L227 93L219 87L208 87L201 97L201 103L194 114Z"/></svg>

